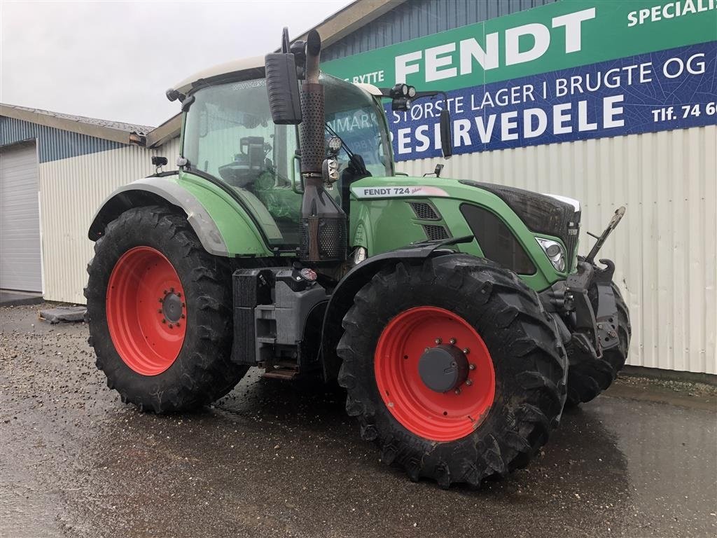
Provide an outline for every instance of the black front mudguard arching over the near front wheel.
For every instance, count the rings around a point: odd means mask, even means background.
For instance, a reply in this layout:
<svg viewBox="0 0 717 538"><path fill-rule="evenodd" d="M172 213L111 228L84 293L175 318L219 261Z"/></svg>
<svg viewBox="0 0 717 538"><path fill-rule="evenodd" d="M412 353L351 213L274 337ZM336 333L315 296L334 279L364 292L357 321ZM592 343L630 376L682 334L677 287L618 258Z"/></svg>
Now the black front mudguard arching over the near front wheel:
<svg viewBox="0 0 717 538"><path fill-rule="evenodd" d="M353 297L356 296L356 293L381 268L400 260L424 260L434 256L452 254L455 251L447 247L471 241L473 241L473 235L452 237L441 241L427 241L397 250L389 250L367 258L359 265L351 268L346 275L343 275L336 288L333 288L331 299L328 301L326 313L323 316L321 362L323 364L324 379L330 381L338 376L341 359L336 354L336 346L338 346L338 341L341 339L341 334L343 334L343 328L341 327L343 316L351 308Z"/></svg>

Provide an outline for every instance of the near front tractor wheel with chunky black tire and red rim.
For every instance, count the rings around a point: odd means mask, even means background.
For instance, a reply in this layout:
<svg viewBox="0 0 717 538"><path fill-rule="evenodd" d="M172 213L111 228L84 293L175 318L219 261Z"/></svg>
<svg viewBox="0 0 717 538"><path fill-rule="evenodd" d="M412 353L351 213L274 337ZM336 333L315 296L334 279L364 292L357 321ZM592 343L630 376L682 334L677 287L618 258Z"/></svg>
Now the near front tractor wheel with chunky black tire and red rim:
<svg viewBox="0 0 717 538"><path fill-rule="evenodd" d="M433 323L430 317L418 318L413 332L409 324L395 338L386 336L386 331L402 325L402 318L421 311L444 313L435 331L426 330ZM441 326L449 329L438 329ZM381 270L356 294L343 328L338 382L348 392L346 411L359 419L362 438L379 445L381 460L399 464L414 481L425 477L443 488L457 482L480 486L489 476L505 476L526 466L559 423L567 359L556 325L536 293L515 273L488 260L455 254ZM473 383L462 384L458 393L434 391L437 396L425 400L429 391L415 381L417 357L409 354L415 354L416 346L419 351L434 346L438 336L446 342L462 328L474 331L485 343L489 363L481 366L475 359L478 349L470 350L467 359L476 367L468 374ZM434 334L439 331L447 334ZM458 349L464 336L457 339ZM399 342L398 347L386 347L386 339ZM471 392L491 374L493 393L485 392L489 384L483 392ZM399 394L387 394L386 376L397 379L392 386ZM463 403L465 410L473 410L474 400L485 395L490 401L487 407L478 406L480 416L464 412L452 419ZM424 400L424 415L411 411ZM435 403L452 406L445 407L450 414L441 413L441 407L432 412ZM465 417L473 420L467 433L457 422Z"/></svg>

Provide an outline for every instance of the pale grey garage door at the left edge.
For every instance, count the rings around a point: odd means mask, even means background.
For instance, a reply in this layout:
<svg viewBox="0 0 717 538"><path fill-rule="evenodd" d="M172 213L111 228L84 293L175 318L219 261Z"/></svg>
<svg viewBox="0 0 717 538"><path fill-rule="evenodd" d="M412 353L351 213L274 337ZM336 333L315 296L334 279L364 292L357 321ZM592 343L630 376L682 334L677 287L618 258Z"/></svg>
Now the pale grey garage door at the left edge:
<svg viewBox="0 0 717 538"><path fill-rule="evenodd" d="M37 151L0 148L0 288L42 291Z"/></svg>

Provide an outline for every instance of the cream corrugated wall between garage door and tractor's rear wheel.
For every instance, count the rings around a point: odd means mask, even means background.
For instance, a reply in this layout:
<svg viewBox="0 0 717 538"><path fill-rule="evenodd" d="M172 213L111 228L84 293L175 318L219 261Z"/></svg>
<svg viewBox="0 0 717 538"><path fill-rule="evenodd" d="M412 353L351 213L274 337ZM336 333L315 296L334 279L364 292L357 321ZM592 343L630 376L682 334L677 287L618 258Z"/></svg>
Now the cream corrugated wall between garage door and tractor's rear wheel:
<svg viewBox="0 0 717 538"><path fill-rule="evenodd" d="M70 133L71 134L71 133ZM179 138L151 151L123 146L39 165L44 297L85 303L87 262L92 241L87 230L100 204L120 185L153 174L151 156L166 156L174 169Z"/></svg>

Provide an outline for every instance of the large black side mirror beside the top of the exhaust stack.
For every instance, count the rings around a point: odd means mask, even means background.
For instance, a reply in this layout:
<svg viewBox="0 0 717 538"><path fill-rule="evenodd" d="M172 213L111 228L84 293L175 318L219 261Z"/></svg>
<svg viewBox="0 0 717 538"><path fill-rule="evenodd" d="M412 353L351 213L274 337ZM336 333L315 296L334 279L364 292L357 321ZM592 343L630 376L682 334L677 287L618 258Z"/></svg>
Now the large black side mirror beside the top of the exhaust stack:
<svg viewBox="0 0 717 538"><path fill-rule="evenodd" d="M289 52L289 47L289 30L284 28L282 52L274 52L264 58L269 108L272 120L277 125L301 123L299 79L295 57Z"/></svg>

